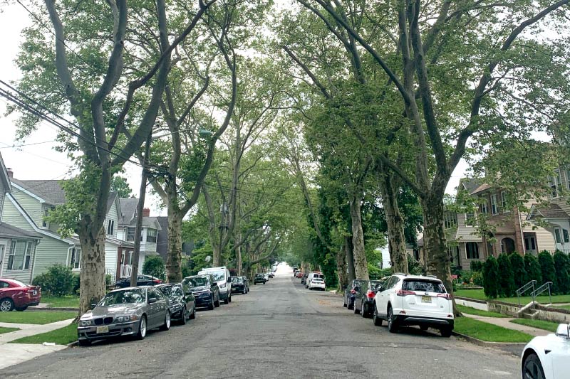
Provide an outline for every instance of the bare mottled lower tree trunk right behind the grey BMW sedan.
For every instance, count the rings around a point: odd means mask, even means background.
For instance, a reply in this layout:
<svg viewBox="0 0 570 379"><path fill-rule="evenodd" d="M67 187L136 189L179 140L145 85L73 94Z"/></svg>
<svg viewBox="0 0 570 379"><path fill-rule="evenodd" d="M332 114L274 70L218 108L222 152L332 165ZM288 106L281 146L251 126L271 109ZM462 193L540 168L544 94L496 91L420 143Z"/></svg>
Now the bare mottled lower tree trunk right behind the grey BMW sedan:
<svg viewBox="0 0 570 379"><path fill-rule="evenodd" d="M84 218L85 220L85 218ZM99 229L91 237L90 225L81 225L78 230L81 242L81 283L79 315L86 313L91 304L105 296L105 230Z"/></svg>

